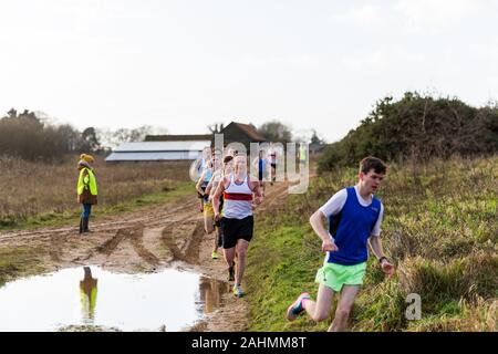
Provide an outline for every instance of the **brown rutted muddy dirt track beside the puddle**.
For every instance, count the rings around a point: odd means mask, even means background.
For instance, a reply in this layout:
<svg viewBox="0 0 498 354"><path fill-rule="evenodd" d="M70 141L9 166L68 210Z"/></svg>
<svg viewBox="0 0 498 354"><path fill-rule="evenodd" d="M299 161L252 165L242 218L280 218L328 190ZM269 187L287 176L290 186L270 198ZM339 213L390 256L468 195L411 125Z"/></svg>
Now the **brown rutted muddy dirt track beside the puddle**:
<svg viewBox="0 0 498 354"><path fill-rule="evenodd" d="M256 210L256 222L259 214L284 202L287 197L288 184L268 185L264 201ZM215 236L205 235L198 207L199 201L193 192L177 202L95 222L91 220L92 232L83 236L79 235L76 226L1 232L0 247L34 249L37 263L46 271L77 266L98 266L123 273L175 268L226 281L227 266L222 257L211 259ZM98 215L98 207L93 212ZM236 299L227 292L221 306L189 330L245 331L248 327L246 299Z"/></svg>

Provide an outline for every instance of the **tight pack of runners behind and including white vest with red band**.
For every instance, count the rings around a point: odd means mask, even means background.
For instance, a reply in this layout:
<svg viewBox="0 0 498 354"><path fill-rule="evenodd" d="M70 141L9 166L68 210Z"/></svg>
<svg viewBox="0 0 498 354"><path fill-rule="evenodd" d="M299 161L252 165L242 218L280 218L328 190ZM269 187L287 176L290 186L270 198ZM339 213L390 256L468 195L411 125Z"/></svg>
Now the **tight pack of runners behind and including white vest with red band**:
<svg viewBox="0 0 498 354"><path fill-rule="evenodd" d="M258 178L250 176L247 155L230 148L226 152L206 148L199 160L196 189L205 231L215 232L211 258L219 259L218 249L222 248L228 281L234 281L232 292L238 298L245 295L241 282L253 233L252 211L264 196L264 164L258 165Z"/></svg>

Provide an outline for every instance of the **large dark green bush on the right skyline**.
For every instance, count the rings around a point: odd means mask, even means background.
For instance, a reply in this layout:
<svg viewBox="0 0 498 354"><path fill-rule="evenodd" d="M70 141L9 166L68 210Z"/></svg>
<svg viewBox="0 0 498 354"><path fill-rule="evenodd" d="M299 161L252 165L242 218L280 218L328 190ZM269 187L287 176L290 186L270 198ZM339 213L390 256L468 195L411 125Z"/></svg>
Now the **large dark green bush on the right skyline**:
<svg viewBox="0 0 498 354"><path fill-rule="evenodd" d="M395 101L380 100L360 126L326 146L319 170L354 165L367 155L385 160L426 160L452 155L498 152L498 107L473 107L456 97L407 92Z"/></svg>

